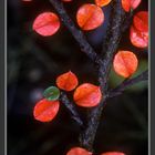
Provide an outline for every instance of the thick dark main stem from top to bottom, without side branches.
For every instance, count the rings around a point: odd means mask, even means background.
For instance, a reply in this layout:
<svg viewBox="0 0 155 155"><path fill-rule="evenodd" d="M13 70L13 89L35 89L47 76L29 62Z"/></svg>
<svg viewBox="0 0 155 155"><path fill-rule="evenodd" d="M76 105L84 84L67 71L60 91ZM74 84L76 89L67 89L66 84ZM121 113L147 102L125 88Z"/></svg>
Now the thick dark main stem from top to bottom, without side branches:
<svg viewBox="0 0 155 155"><path fill-rule="evenodd" d="M124 20L124 11L122 10L121 0L113 0L113 9L111 16L111 24L108 27L108 39L107 46L105 46L104 59L99 64L99 83L102 90L103 99L99 106L94 107L90 114L90 121L86 130L81 134L80 142L81 145L89 151L93 151L93 143L96 135L96 130L100 123L101 114L105 105L105 95L107 91L107 79L111 69L114 52L117 49L121 35L122 35L122 24Z"/></svg>

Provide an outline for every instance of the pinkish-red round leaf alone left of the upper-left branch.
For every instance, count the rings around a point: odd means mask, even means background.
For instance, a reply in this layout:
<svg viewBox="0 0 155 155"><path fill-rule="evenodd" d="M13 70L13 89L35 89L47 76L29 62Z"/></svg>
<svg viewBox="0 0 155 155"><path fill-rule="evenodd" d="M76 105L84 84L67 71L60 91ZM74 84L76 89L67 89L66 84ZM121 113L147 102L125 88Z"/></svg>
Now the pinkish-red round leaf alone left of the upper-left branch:
<svg viewBox="0 0 155 155"><path fill-rule="evenodd" d="M60 20L53 12L39 14L33 22L33 30L43 37L53 35L60 28Z"/></svg>

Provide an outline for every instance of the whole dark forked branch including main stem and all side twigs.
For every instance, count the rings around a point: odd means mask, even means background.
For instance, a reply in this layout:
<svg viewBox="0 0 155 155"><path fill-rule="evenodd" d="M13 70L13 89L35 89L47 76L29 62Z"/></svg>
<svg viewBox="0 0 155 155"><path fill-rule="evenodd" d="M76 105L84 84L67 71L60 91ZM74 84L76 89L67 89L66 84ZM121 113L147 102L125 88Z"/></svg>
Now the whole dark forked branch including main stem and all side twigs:
<svg viewBox="0 0 155 155"><path fill-rule="evenodd" d="M94 144L97 126L100 124L100 118L103 108L106 105L106 101L111 97L122 94L122 92L125 91L128 86L141 81L146 81L148 79L148 71L145 71L141 75L134 79L127 79L126 81L121 83L117 87L110 91L107 90L108 74L110 74L113 56L117 50L122 33L128 28L131 23L128 21L132 19L133 12L131 12L130 16L126 18L126 13L122 9L121 0L113 0L111 18L110 18L111 21L107 28L106 39L103 41L103 49L101 53L97 54L95 50L92 48L92 45L87 42L83 32L75 27L74 22L66 13L61 0L50 0L50 2L59 13L63 24L69 29L71 34L79 43L81 51L83 51L87 55L87 58L92 60L92 62L95 64L96 70L99 72L97 78L103 94L103 99L101 100L99 106L92 108L89 117L89 123L86 124L84 131L82 130L82 133L80 134L80 138L79 138L82 147L85 147L87 151L93 152L93 144ZM61 94L61 101L70 111L73 120L80 126L85 125L83 121L80 118L76 108L69 101L66 94L64 93Z"/></svg>

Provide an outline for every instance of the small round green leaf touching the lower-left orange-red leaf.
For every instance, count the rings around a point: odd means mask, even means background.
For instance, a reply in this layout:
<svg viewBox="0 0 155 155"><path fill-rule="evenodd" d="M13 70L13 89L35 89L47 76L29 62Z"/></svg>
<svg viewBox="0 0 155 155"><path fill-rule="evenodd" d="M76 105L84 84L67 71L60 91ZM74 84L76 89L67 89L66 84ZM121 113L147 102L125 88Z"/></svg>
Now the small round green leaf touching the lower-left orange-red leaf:
<svg viewBox="0 0 155 155"><path fill-rule="evenodd" d="M43 96L49 101L55 101L60 96L60 90L55 86L50 86L43 92Z"/></svg>

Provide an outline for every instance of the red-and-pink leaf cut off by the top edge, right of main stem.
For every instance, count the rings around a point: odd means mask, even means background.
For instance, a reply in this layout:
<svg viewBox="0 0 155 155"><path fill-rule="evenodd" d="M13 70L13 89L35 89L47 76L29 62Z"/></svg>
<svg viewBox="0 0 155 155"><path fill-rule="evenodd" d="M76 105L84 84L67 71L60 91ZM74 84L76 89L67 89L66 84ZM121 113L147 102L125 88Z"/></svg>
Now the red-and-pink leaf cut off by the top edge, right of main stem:
<svg viewBox="0 0 155 155"><path fill-rule="evenodd" d="M131 9L136 9L138 4L141 3L141 0L122 0L122 8L126 11L130 12Z"/></svg>

